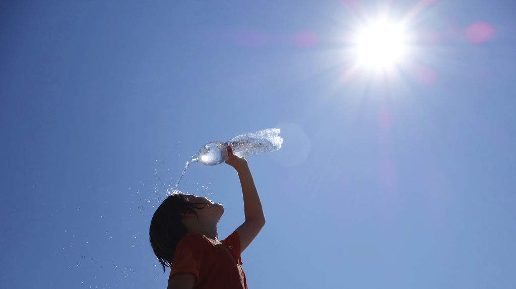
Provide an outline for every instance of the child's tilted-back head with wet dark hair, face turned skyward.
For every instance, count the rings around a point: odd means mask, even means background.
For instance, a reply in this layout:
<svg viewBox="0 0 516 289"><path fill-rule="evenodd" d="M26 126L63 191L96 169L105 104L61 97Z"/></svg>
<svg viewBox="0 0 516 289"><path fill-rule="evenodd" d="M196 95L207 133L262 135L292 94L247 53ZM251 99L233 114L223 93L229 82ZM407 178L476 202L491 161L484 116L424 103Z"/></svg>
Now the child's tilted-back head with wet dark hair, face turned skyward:
<svg viewBox="0 0 516 289"><path fill-rule="evenodd" d="M216 226L224 209L205 197L174 194L166 198L152 216L149 239L162 265L170 266L179 240L204 226Z"/></svg>

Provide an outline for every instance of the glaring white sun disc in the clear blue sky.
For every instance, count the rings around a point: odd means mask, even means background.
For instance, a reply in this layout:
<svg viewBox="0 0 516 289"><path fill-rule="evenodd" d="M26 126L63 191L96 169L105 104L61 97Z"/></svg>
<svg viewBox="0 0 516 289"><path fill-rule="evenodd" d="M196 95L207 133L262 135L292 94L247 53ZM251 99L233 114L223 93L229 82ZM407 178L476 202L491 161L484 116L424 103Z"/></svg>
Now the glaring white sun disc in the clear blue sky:
<svg viewBox="0 0 516 289"><path fill-rule="evenodd" d="M360 29L353 38L359 66L384 70L399 64L407 54L404 28L389 21L378 21Z"/></svg>

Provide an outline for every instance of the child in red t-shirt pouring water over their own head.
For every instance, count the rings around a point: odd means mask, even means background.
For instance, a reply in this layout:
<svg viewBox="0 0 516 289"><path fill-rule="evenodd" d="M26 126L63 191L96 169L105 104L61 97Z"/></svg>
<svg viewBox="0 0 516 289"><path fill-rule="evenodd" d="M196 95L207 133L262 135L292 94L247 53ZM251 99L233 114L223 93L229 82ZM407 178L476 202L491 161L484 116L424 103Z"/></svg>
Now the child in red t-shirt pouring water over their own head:
<svg viewBox="0 0 516 289"><path fill-rule="evenodd" d="M228 146L228 165L235 168L244 195L245 221L231 235L218 240L217 222L224 208L206 197L174 194L163 201L151 220L152 249L165 271L168 289L247 289L240 253L265 224L262 203L247 160Z"/></svg>

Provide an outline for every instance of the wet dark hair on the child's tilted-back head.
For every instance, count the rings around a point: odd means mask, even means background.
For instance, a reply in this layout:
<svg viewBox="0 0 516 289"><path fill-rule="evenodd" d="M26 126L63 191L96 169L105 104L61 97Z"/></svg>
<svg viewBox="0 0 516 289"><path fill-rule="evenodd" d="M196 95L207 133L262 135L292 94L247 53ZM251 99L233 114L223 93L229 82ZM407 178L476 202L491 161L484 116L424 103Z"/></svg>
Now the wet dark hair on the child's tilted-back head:
<svg viewBox="0 0 516 289"><path fill-rule="evenodd" d="M156 209L149 228L149 240L152 250L165 272L165 266L170 267L174 262L175 246L188 233L181 221L181 213L197 213L194 208L202 203L188 203L185 194L174 194L167 197ZM199 217L197 217L199 218Z"/></svg>

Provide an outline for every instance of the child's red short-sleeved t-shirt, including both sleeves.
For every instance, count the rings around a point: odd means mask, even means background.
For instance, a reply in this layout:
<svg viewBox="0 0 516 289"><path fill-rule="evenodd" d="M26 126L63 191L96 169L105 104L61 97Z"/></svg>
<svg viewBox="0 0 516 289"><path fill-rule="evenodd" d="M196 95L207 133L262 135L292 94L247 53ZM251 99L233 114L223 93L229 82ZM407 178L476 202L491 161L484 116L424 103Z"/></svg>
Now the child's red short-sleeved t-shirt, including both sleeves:
<svg viewBox="0 0 516 289"><path fill-rule="evenodd" d="M247 289L246 275L240 265L238 233L233 232L219 242L191 232L175 248L168 280L177 272L191 272L196 276L195 289Z"/></svg>

